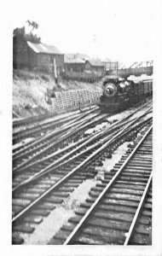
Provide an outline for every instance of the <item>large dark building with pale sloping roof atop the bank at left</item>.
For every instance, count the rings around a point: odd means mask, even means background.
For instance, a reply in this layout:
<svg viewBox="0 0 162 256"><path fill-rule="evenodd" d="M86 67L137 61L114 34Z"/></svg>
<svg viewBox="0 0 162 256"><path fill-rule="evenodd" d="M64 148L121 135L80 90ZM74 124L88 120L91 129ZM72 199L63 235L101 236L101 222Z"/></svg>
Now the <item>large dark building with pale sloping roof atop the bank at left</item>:
<svg viewBox="0 0 162 256"><path fill-rule="evenodd" d="M21 37L13 39L14 68L27 67L52 72L54 61L57 71L64 68L64 55L53 45L35 44Z"/></svg>

